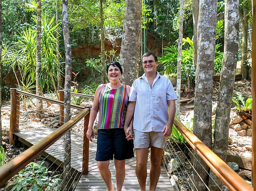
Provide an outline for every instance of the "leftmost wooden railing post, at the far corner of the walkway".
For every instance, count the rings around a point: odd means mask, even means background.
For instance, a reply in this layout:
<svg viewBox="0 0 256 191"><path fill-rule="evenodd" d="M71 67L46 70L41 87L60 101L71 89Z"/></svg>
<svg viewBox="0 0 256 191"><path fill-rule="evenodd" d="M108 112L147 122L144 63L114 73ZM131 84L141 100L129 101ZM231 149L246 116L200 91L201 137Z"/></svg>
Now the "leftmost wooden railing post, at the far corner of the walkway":
<svg viewBox="0 0 256 191"><path fill-rule="evenodd" d="M14 132L19 132L19 94L16 88L10 89L10 144L15 144Z"/></svg>

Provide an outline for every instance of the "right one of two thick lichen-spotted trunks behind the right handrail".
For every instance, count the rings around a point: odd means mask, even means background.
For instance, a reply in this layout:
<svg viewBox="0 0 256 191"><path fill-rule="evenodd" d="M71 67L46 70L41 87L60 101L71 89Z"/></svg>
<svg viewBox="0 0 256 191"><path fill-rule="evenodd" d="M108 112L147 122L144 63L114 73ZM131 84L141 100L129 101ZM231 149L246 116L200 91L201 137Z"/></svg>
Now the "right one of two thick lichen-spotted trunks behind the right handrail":
<svg viewBox="0 0 256 191"><path fill-rule="evenodd" d="M238 6L237 0L225 0L224 55L220 75L220 93L216 109L213 147L214 153L224 161L228 150L230 110L238 55ZM213 171L210 172L210 176L210 190L219 190L222 187L222 181Z"/></svg>

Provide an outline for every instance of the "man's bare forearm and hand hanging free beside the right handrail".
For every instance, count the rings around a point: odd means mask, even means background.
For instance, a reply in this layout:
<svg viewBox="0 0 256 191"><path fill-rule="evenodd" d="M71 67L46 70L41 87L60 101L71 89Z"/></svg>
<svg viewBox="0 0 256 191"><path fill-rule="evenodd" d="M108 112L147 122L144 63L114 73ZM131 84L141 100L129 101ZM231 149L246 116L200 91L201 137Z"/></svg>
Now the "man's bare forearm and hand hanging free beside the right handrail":
<svg viewBox="0 0 256 191"><path fill-rule="evenodd" d="M168 122L163 127L163 131L162 131L164 132L163 137L169 137L172 134L172 124L174 121L175 111L176 111L175 100L167 100L167 104L169 107Z"/></svg>

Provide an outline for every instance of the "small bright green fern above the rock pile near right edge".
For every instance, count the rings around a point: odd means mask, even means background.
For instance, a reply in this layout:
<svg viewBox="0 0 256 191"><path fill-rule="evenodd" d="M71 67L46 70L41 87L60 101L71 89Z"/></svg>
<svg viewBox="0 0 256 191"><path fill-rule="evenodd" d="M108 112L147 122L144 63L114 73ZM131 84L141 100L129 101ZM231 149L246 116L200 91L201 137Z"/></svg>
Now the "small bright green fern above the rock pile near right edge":
<svg viewBox="0 0 256 191"><path fill-rule="evenodd" d="M245 101L245 97L240 93L235 93L237 97L233 97L232 101L236 104L238 112L251 113L252 111L252 95ZM241 103L241 104L240 104Z"/></svg>

